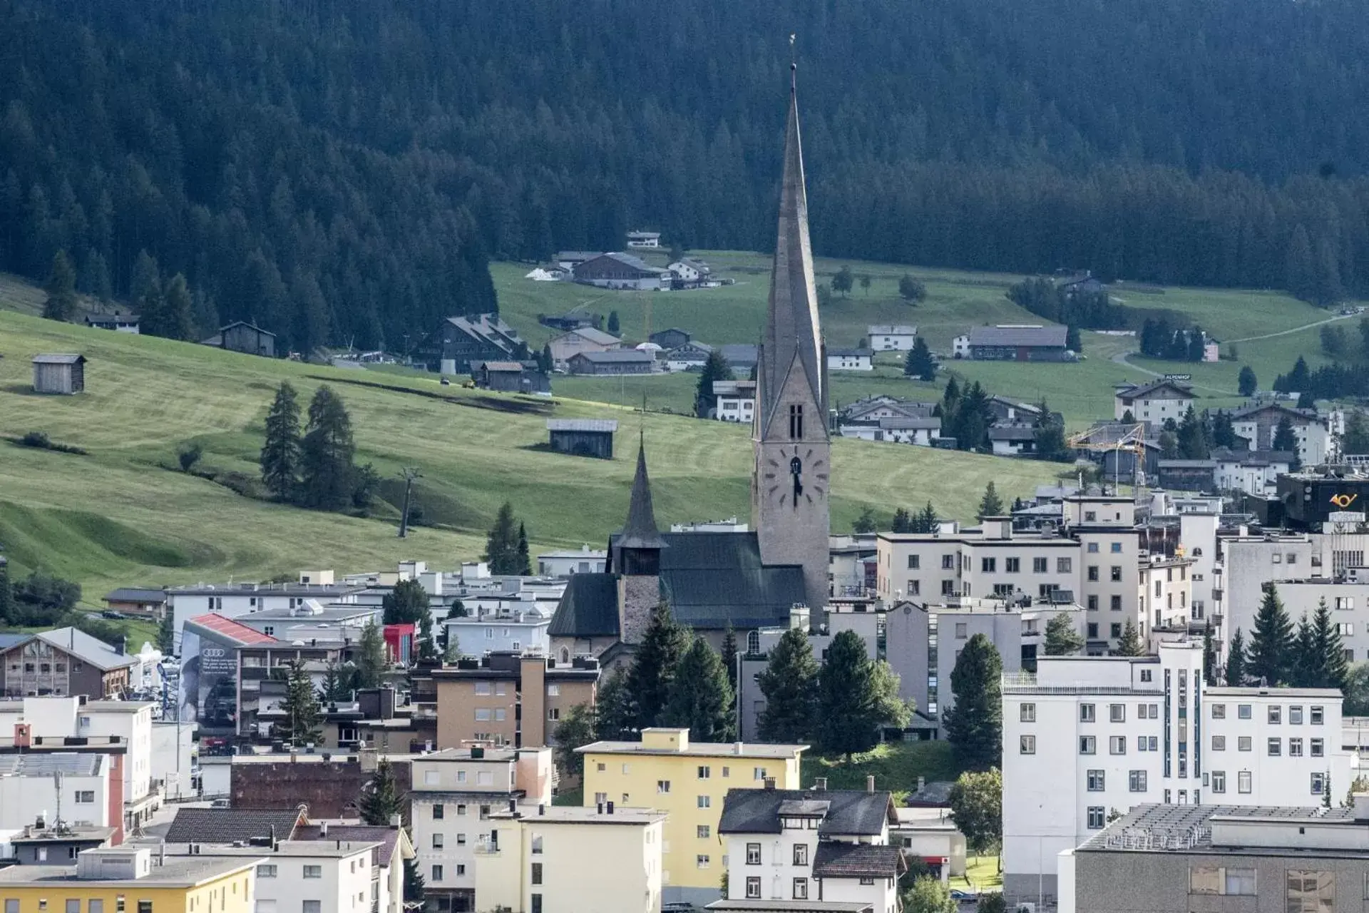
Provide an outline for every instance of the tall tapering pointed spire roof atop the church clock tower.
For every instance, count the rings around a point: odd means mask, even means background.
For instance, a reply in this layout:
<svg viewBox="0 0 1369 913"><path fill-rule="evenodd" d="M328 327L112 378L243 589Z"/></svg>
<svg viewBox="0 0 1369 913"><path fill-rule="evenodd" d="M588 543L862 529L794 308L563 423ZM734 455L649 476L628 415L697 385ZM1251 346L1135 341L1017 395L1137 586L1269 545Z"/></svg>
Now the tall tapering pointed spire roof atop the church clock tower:
<svg viewBox="0 0 1369 913"><path fill-rule="evenodd" d="M758 419L761 434L773 419L786 376L801 372L819 413L813 428L826 428L827 372L823 364L813 252L808 238L808 193L804 186L804 149L798 133L798 90L790 68L789 123L784 130L784 171L780 179L779 233L771 267L771 292L761 338Z"/></svg>

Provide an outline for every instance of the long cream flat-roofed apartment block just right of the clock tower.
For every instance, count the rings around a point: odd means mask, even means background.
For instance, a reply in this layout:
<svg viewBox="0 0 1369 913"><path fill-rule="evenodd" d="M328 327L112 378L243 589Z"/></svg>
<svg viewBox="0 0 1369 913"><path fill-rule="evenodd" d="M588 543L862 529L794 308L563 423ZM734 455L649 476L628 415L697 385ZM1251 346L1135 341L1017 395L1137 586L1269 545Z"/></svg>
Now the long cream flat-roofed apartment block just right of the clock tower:
<svg viewBox="0 0 1369 913"><path fill-rule="evenodd" d="M884 605L950 597L1060 600L1084 608L1090 650L1117 645L1127 619L1142 632L1138 534L1129 500L1076 496L1065 501L1065 528L1014 531L990 517L977 530L943 523L938 532L880 532L876 591ZM1051 595L1055 594L1055 595Z"/></svg>

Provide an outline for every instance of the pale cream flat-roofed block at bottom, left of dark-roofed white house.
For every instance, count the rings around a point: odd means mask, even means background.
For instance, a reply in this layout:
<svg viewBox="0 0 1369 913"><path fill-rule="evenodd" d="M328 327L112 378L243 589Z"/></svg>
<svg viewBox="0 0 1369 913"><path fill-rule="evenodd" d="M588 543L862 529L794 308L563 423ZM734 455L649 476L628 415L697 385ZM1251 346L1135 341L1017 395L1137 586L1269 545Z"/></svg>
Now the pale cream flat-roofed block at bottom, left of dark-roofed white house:
<svg viewBox="0 0 1369 913"><path fill-rule="evenodd" d="M490 814L475 847L475 909L657 913L665 814L539 805Z"/></svg>

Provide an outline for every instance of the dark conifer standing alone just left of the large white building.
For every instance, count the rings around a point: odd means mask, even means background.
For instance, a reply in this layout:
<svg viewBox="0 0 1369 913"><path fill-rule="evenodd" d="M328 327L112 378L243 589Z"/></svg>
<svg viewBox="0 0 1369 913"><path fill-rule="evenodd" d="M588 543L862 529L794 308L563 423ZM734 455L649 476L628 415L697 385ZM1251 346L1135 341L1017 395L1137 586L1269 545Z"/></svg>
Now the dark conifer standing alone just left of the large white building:
<svg viewBox="0 0 1369 913"><path fill-rule="evenodd" d="M1003 660L983 634L965 642L950 673L956 705L942 713L946 739L956 762L969 771L987 771L1002 762Z"/></svg>

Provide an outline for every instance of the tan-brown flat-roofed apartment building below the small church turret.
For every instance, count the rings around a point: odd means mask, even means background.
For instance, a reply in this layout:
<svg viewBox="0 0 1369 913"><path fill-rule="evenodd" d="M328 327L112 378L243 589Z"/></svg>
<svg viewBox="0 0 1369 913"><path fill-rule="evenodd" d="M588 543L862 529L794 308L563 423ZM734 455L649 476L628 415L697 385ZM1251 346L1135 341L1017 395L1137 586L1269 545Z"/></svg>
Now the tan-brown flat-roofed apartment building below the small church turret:
<svg viewBox="0 0 1369 913"><path fill-rule="evenodd" d="M471 742L513 747L552 743L556 724L578 704L594 705L598 660L559 665L545 656L490 653L433 669L437 747Z"/></svg>

